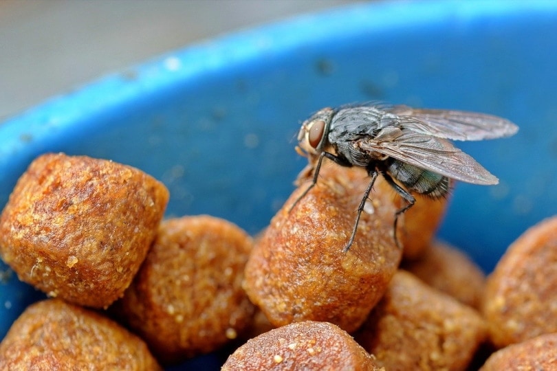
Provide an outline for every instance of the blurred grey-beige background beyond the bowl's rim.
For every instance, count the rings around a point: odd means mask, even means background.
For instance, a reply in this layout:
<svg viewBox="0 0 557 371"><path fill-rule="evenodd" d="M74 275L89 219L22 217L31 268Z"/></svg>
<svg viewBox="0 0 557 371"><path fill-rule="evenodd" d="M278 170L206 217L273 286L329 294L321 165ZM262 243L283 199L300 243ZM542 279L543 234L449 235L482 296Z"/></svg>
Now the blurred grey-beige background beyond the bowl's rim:
<svg viewBox="0 0 557 371"><path fill-rule="evenodd" d="M0 122L157 54L352 2L0 0Z"/></svg>

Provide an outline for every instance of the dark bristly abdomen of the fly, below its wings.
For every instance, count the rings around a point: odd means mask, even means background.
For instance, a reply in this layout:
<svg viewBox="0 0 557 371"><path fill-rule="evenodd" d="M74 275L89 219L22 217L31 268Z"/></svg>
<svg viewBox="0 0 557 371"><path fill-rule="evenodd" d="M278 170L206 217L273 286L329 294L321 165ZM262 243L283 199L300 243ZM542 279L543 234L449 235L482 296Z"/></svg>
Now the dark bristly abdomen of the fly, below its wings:
<svg viewBox="0 0 557 371"><path fill-rule="evenodd" d="M387 170L391 177L400 181L408 190L438 199L445 196L450 188L450 179L429 170L393 160Z"/></svg>

